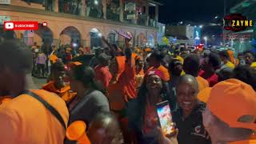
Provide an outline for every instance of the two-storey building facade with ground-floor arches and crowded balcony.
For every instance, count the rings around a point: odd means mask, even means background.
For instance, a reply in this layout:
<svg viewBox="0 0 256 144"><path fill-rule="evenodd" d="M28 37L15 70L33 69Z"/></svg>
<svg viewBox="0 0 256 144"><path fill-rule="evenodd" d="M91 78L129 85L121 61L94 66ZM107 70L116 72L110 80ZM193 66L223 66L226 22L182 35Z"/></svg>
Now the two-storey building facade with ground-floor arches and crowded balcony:
<svg viewBox="0 0 256 144"><path fill-rule="evenodd" d="M154 46L159 5L153 0L7 0L0 1L0 25L3 21L39 22L38 30L14 31L28 46L34 42L38 46L102 46L102 36L123 46L124 38L116 31L130 32L133 46ZM47 26L42 26L43 22Z"/></svg>

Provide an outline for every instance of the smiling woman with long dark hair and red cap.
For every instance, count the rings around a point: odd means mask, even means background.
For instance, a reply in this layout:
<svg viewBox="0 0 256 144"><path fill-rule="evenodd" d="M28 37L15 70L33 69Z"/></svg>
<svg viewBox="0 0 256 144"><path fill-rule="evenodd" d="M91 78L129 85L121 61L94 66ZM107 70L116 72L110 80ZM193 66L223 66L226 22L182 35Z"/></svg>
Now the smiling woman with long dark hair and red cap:
<svg viewBox="0 0 256 144"><path fill-rule="evenodd" d="M130 138L134 143L158 144L162 140L159 130L157 104L166 101L166 85L160 70L146 73L138 98L128 102ZM164 138L163 138L164 139ZM164 142L165 143L165 142Z"/></svg>

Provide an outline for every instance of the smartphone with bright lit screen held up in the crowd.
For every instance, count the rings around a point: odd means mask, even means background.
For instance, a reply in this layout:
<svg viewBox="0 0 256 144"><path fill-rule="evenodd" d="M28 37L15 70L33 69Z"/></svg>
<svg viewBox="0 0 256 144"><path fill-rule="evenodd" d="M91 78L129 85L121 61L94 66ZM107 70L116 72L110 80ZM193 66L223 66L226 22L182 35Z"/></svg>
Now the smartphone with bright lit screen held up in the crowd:
<svg viewBox="0 0 256 144"><path fill-rule="evenodd" d="M174 133L174 122L170 113L170 105L168 101L160 102L157 104L158 110L158 122L165 135L171 135Z"/></svg>

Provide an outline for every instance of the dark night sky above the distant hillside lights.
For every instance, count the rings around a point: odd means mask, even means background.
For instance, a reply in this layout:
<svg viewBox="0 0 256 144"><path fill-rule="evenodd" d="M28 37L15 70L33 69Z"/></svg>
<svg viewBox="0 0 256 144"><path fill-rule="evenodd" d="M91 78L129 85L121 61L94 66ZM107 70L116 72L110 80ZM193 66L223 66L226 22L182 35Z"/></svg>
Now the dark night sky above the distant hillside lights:
<svg viewBox="0 0 256 144"><path fill-rule="evenodd" d="M156 0L160 1L160 0ZM226 0L226 7L241 0ZM162 0L159 22L211 22L216 15L223 17L224 0Z"/></svg>

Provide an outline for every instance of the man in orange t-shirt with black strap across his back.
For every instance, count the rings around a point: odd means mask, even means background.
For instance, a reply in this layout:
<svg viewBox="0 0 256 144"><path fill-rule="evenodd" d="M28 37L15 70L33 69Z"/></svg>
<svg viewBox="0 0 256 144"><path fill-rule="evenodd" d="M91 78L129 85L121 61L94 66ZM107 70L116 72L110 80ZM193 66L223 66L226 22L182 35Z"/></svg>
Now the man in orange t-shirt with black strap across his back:
<svg viewBox="0 0 256 144"><path fill-rule="evenodd" d="M46 90L22 92L31 59L18 41L0 44L0 94L17 95L0 106L1 144L62 143L65 138L69 113L62 98Z"/></svg>

